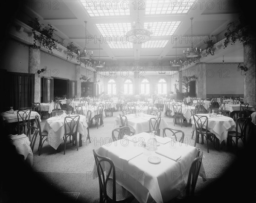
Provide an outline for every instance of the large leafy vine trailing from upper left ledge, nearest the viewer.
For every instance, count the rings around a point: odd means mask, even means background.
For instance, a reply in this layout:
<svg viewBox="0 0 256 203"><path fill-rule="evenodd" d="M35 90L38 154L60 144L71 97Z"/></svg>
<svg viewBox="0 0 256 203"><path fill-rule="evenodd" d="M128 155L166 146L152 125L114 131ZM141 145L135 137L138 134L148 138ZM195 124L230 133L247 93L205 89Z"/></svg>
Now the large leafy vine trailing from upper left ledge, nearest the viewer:
<svg viewBox="0 0 256 203"><path fill-rule="evenodd" d="M32 47L34 49L40 49L40 47L44 47L48 50L48 53L52 53L52 49L58 50L56 43L60 43L58 40L53 39L53 32L57 32L50 24L48 24L49 28L42 28L44 24L39 23L38 17L35 17L33 20L29 20L28 25L32 27L32 33L34 38L34 43ZM38 35L38 32L40 35ZM37 45L39 42L40 46Z"/></svg>

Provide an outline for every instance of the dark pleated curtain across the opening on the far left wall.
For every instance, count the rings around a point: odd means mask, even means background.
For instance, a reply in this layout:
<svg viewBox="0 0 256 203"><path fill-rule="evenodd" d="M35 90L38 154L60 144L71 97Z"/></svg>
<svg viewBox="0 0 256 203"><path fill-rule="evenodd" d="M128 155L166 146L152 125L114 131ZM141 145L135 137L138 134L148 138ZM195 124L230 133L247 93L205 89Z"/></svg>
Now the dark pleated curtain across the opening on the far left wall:
<svg viewBox="0 0 256 203"><path fill-rule="evenodd" d="M10 73L10 106L32 107L35 94L35 75L30 73Z"/></svg>

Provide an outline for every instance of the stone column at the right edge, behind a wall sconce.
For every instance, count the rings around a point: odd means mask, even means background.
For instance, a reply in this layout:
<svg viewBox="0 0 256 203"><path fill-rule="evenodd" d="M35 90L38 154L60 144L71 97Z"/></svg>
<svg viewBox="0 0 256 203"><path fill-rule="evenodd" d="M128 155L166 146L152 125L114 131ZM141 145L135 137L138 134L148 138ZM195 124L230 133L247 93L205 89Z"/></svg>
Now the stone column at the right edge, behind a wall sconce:
<svg viewBox="0 0 256 203"><path fill-rule="evenodd" d="M244 103L256 107L256 77L255 77L255 41L244 44L244 67L248 70L244 75ZM243 71L244 72L244 71Z"/></svg>

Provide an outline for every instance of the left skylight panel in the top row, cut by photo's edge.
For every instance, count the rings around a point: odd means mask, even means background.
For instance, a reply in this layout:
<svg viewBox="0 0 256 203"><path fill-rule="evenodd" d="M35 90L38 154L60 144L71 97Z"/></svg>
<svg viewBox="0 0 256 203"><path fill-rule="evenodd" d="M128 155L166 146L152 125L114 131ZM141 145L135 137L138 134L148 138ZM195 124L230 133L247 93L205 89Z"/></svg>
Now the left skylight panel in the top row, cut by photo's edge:
<svg viewBox="0 0 256 203"><path fill-rule="evenodd" d="M90 17L105 16L127 16L130 15L128 1L109 1L109 0L80 0L84 9Z"/></svg>

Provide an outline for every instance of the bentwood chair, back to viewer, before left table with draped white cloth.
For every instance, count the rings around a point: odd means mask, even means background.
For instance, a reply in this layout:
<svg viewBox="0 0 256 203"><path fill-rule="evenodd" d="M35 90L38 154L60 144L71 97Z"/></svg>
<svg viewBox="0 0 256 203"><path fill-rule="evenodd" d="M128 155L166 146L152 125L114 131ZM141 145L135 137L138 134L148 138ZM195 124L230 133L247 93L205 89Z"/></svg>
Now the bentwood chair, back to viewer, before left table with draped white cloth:
<svg viewBox="0 0 256 203"><path fill-rule="evenodd" d="M78 151L78 143L77 143L77 133L78 133L78 125L79 125L80 116L67 116L64 118L64 154L66 152L67 138L72 137L72 143L76 145L76 150Z"/></svg>

